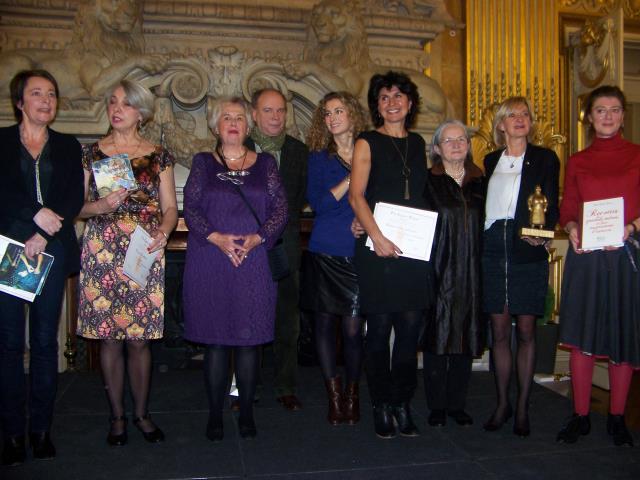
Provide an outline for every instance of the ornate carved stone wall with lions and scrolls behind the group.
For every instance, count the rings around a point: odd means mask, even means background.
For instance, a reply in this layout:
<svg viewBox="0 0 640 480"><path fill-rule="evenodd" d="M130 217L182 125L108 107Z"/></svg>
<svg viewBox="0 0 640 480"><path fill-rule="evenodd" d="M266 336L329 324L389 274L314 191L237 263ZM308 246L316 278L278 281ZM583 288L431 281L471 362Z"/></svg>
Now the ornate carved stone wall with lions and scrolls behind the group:
<svg viewBox="0 0 640 480"><path fill-rule="evenodd" d="M19 69L50 70L61 86L55 128L89 140L108 128L104 93L138 79L156 95L146 135L185 166L211 148L206 111L217 97L277 87L289 131L303 136L324 93L364 99L371 74L389 68L418 83L417 130L429 137L451 106L441 53L428 46L461 28L444 0L0 0L0 16L2 91ZM0 124L12 121L4 97Z"/></svg>

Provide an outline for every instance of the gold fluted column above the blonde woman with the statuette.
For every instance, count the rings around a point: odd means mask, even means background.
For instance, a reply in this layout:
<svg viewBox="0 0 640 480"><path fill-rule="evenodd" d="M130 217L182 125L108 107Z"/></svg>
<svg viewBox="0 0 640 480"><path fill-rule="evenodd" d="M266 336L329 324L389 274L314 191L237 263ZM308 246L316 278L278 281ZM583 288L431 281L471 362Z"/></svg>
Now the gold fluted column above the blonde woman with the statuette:
<svg viewBox="0 0 640 480"><path fill-rule="evenodd" d="M466 0L466 7L467 122L478 126L485 108L520 94L558 131L557 2Z"/></svg>

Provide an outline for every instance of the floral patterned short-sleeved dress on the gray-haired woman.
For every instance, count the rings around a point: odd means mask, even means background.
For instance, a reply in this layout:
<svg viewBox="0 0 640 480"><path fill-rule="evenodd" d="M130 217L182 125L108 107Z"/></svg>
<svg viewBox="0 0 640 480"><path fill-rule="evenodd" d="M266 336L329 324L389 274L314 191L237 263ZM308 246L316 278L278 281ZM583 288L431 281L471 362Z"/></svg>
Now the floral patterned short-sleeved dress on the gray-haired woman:
<svg viewBox="0 0 640 480"><path fill-rule="evenodd" d="M106 158L97 143L83 148L83 167ZM164 328L164 255L151 267L146 287L122 273L131 234L140 225L152 233L160 224L160 172L174 159L158 146L145 156L131 160L138 183L133 192L109 214L87 221L82 240L78 335L112 340L162 338ZM93 176L89 199L97 200Z"/></svg>

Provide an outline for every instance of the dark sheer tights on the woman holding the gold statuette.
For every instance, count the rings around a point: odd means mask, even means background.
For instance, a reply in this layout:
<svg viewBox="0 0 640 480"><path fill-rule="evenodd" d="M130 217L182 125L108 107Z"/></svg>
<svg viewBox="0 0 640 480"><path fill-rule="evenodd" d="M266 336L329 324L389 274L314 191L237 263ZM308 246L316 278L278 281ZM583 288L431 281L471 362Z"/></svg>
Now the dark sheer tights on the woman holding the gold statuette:
<svg viewBox="0 0 640 480"><path fill-rule="evenodd" d="M504 418L509 405L509 381L513 359L511 354L511 315L507 308L500 314L491 315L491 330L493 333L493 367L495 370L496 392L498 405L496 418ZM523 420L529 410L529 394L533 381L533 370L536 360L536 317L534 315L516 316L516 337L518 352L516 368L518 374L518 402L516 420Z"/></svg>

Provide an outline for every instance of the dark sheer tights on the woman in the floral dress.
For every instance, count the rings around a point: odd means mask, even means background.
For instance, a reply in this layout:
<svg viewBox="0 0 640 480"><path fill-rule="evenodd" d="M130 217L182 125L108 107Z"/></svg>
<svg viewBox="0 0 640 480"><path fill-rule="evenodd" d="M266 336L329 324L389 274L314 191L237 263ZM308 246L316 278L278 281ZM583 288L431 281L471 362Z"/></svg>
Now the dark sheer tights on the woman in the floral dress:
<svg viewBox="0 0 640 480"><path fill-rule="evenodd" d="M133 396L134 417L141 418L147 414L149 386L151 385L151 348L148 341L101 341L100 367L104 388L111 406L111 415L113 417L124 416L125 344L127 347L126 371ZM114 433L116 434L124 428L124 422L118 423L114 424ZM150 420L142 420L139 426L144 431L151 431L155 428Z"/></svg>

